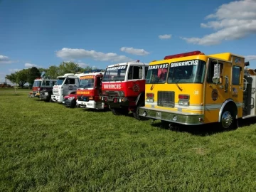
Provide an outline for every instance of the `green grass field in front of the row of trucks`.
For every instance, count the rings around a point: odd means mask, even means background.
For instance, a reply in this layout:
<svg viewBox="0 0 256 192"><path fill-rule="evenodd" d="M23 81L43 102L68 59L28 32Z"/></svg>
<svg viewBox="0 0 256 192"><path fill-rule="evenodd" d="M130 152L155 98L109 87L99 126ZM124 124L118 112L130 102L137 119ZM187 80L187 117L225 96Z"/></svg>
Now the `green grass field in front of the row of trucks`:
<svg viewBox="0 0 256 192"><path fill-rule="evenodd" d="M0 191L256 189L256 121L178 132L16 94L0 89Z"/></svg>

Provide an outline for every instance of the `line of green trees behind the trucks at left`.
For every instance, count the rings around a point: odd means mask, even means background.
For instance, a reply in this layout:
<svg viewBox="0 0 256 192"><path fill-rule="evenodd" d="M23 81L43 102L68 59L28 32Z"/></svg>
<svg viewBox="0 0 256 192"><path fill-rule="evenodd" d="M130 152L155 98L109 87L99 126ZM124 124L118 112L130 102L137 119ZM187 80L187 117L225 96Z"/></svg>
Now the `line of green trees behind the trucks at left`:
<svg viewBox="0 0 256 192"><path fill-rule="evenodd" d="M82 73L85 70L94 70L97 68L91 68L87 66L86 68L81 68L77 63L73 62L62 62L59 66L52 65L49 68L28 68L19 70L11 75L6 75L6 79L17 83L18 86L22 87L28 82L29 85L33 85L33 81L36 78L41 77L41 73L45 72L45 78L56 79L60 75L65 73Z"/></svg>

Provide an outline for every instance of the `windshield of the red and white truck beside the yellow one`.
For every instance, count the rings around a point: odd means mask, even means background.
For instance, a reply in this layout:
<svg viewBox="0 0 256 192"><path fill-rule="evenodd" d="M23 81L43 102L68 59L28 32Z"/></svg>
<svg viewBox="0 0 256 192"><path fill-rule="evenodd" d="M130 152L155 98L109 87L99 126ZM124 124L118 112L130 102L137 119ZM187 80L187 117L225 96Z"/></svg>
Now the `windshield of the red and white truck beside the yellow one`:
<svg viewBox="0 0 256 192"><path fill-rule="evenodd" d="M102 81L123 81L125 78L126 71L127 65L119 65L116 67L106 68Z"/></svg>

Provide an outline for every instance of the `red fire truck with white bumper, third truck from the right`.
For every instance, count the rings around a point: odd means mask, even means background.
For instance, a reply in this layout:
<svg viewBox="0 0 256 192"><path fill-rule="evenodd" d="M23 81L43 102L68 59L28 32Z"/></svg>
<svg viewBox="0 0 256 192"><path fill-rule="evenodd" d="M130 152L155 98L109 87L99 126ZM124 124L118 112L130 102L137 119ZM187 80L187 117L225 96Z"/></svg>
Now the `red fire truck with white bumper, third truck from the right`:
<svg viewBox="0 0 256 192"><path fill-rule="evenodd" d="M78 107L85 107L90 109L103 110L104 102L100 100L102 92L102 73L105 70L91 70L85 71L80 76L80 83L77 90L77 105Z"/></svg>

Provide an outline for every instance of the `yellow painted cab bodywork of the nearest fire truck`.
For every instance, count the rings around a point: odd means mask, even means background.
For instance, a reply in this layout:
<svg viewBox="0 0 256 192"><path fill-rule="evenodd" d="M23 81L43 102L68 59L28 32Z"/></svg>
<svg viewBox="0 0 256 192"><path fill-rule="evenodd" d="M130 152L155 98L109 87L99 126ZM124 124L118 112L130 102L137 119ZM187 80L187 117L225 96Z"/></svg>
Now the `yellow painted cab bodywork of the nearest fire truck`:
<svg viewBox="0 0 256 192"><path fill-rule="evenodd" d="M145 102L147 109L159 110L164 112L179 112L184 114L203 114L203 123L218 122L220 118L220 109L227 100L233 100L238 107L238 117L242 117L243 101L243 75L245 58L232 53L218 53L213 55L193 55L182 58L173 58L169 60L158 60L149 63L157 65L163 63L175 63L185 60L203 60L206 62L206 74L208 74L208 61L218 60L221 64L220 82L214 84L207 82L206 76L203 83L167 83L164 84L146 84L146 94L154 93L154 102ZM233 66L240 67L240 81L238 85L233 85ZM228 84L227 84L228 82ZM178 84L178 85L176 85ZM180 88L181 90L180 90ZM159 91L174 91L175 106L161 107L158 105ZM178 105L178 95L189 95L189 106Z"/></svg>

